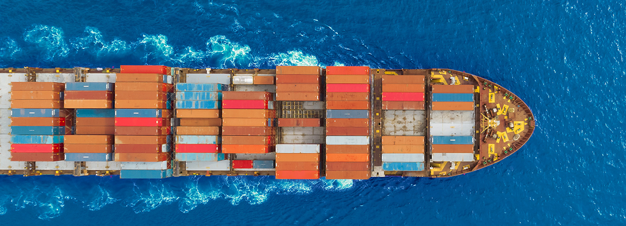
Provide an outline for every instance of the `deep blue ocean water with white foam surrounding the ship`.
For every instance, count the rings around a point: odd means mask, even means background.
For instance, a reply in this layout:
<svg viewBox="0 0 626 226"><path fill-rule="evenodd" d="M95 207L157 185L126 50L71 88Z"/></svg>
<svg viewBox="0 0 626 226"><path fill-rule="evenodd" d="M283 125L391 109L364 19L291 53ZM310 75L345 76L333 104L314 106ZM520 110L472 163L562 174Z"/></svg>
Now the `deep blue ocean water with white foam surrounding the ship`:
<svg viewBox="0 0 626 226"><path fill-rule="evenodd" d="M451 68L534 135L452 178L0 176L0 225L625 225L623 1L0 1L0 67Z"/></svg>

